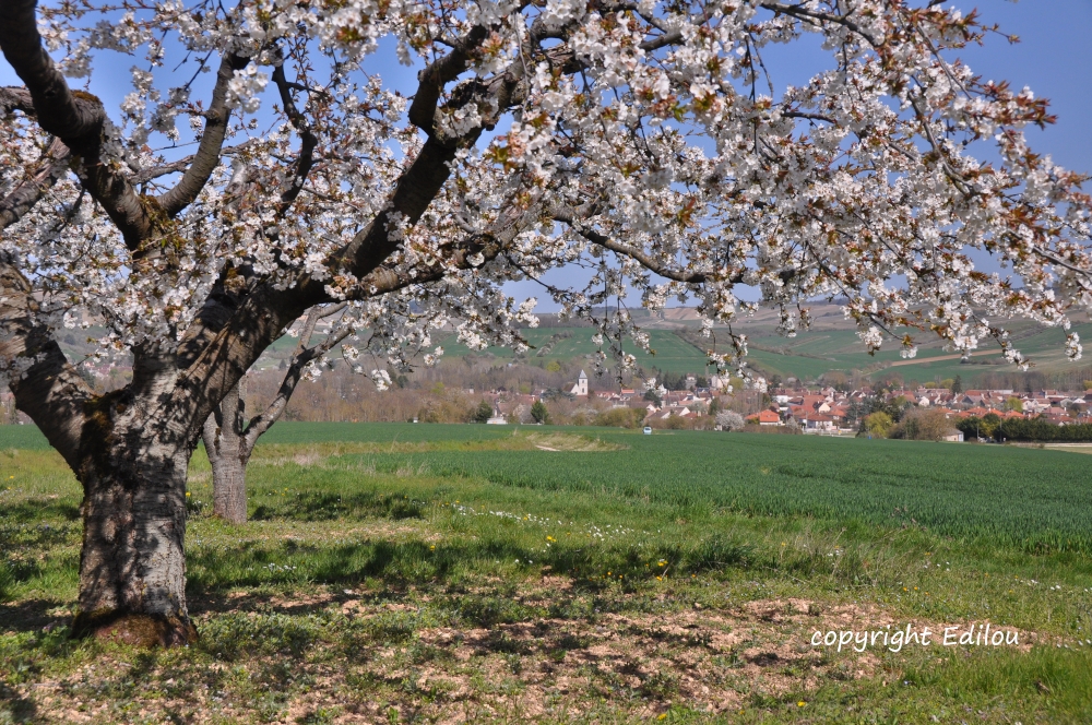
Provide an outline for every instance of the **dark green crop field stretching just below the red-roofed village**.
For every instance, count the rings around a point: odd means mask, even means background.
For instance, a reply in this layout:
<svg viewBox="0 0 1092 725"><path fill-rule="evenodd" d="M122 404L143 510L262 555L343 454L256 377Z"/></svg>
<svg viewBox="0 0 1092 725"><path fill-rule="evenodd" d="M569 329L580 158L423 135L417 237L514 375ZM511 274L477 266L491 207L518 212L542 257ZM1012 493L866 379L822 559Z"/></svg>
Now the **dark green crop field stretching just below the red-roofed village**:
<svg viewBox="0 0 1092 725"><path fill-rule="evenodd" d="M383 428L388 439L422 435L420 426L408 424ZM1070 453L709 431L602 431L596 437L626 448L597 453L592 461L565 451L488 456L440 451L384 456L375 465L388 471L417 466L441 476L553 491L605 490L674 507L880 525L913 521L946 536L1092 554L1089 461Z"/></svg>

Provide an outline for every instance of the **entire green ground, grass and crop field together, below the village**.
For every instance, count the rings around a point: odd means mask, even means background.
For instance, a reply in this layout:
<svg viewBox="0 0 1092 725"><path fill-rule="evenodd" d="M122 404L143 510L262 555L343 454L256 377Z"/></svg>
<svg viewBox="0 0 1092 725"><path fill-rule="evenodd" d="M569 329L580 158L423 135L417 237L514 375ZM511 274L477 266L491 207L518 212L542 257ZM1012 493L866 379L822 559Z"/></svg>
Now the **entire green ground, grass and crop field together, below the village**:
<svg viewBox="0 0 1092 725"><path fill-rule="evenodd" d="M278 424L189 482L200 641L73 641L80 488L0 427L0 724L1087 723L1087 455ZM989 622L1019 643L812 646ZM888 630L890 626L890 630Z"/></svg>

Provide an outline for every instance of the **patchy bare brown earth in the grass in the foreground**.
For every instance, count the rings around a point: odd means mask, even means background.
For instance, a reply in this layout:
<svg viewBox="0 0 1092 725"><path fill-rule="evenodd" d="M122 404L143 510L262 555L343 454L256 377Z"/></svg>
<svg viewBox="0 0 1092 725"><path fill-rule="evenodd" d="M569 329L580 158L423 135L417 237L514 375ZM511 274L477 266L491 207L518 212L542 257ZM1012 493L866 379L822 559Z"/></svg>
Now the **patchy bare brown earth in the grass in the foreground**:
<svg viewBox="0 0 1092 725"><path fill-rule="evenodd" d="M554 581L557 580L557 581ZM545 578L526 598L571 589L563 578ZM412 617L418 606L376 603L365 593L316 593L273 597L266 610L325 609L357 629ZM197 605L197 603L194 603ZM235 606L237 605L237 606ZM199 606L199 605L198 605ZM244 614L252 602L229 596L216 615ZM252 616L252 611L248 616ZM199 621L207 616L199 617ZM347 622L347 623L346 623ZM807 691L823 680L853 680L880 674L878 652L814 647L815 631L874 630L912 623L942 631L945 622L895 619L875 605L820 604L806 599L761 599L724 608L690 608L654 614L602 614L580 618L541 618L490 628L431 627L408 639L361 643L356 649L317 644L288 656L256 655L236 662L194 662L185 666L170 656L153 657L152 673L141 677L153 687L132 692L132 708L144 716L204 723L256 720L256 701L224 697L217 681L249 677L269 689L262 722L388 722L392 710L429 722L479 720L578 718L603 698L628 693L630 717L654 717L673 703L710 714L746 706L756 694L778 697ZM965 622L963 622L965 625ZM1021 632L1021 646L1034 637ZM306 670L301 692L276 700L271 673L289 666ZM14 688L34 703L46 722L106 722L112 696L99 693L104 677L131 681L147 661L99 659L59 681ZM185 685L183 685L185 684ZM98 689L96 689L98 688ZM226 688L224 688L226 689ZM318 713L318 715L316 714Z"/></svg>

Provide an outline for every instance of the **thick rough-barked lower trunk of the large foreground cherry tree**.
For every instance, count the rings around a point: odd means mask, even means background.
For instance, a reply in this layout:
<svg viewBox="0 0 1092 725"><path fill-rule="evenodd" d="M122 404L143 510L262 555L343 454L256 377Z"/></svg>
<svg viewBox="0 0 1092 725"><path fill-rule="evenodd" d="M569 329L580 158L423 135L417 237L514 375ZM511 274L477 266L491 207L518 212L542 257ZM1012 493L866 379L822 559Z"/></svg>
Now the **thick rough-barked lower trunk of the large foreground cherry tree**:
<svg viewBox="0 0 1092 725"><path fill-rule="evenodd" d="M131 414L142 406L126 397L90 404L83 427L76 473L84 535L73 634L139 646L186 644L197 639L186 608L183 554L192 447Z"/></svg>

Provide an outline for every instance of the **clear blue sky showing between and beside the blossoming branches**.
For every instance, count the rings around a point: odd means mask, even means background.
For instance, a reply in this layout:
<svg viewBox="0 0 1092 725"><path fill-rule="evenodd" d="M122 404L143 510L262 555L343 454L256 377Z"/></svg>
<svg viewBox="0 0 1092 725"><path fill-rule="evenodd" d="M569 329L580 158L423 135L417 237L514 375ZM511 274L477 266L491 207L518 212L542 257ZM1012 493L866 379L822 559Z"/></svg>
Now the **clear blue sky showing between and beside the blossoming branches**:
<svg viewBox="0 0 1092 725"><path fill-rule="evenodd" d="M984 47L973 47L962 54L963 60L985 79L1007 80L1014 87L1030 86L1037 97L1051 100L1058 122L1045 130L1026 131L1032 147L1051 154L1055 162L1075 170L1092 173L1092 143L1089 126L1092 119L1092 94L1088 92L1089 71L1092 70L1092 0L986 0L977 5L954 3L964 11L977 7L982 19L996 22L1004 34L1020 36L1021 41L1009 44L1002 36L993 35ZM383 44L388 46L389 44ZM397 66L393 52L384 47L372 57L369 70L378 71L390 86L406 93L413 92L415 69ZM764 54L774 90L780 93L790 84L803 84L818 69L830 62L830 56L811 39L792 46L770 48ZM111 116L117 116L116 104L130 88L129 68L133 59L103 57L96 61L96 73L90 90L107 102ZM211 81L211 74L203 80ZM19 83L7 63L0 61L0 84ZM199 88L193 97L202 97ZM264 103L273 102L272 87ZM185 121L180 121L180 126ZM980 260L984 268L992 265ZM586 278L579 270L556 270L547 280L554 284L572 283ZM538 310L554 311L542 288L532 282L508 286L508 290L522 298L537 296ZM743 290L741 290L743 292ZM741 294L746 297L746 294ZM632 299L631 304L639 304Z"/></svg>

